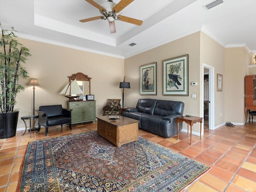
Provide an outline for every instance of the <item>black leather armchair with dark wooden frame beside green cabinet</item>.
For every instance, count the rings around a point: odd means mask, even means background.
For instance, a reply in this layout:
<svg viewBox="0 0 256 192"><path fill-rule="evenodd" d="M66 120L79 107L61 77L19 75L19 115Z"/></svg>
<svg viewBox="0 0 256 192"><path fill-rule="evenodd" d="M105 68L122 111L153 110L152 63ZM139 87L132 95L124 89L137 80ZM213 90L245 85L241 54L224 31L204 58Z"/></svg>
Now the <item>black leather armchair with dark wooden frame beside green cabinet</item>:
<svg viewBox="0 0 256 192"><path fill-rule="evenodd" d="M62 105L40 106L38 112L38 131L41 126L45 127L45 136L48 134L48 127L69 124L71 130L71 111L72 109L64 109Z"/></svg>

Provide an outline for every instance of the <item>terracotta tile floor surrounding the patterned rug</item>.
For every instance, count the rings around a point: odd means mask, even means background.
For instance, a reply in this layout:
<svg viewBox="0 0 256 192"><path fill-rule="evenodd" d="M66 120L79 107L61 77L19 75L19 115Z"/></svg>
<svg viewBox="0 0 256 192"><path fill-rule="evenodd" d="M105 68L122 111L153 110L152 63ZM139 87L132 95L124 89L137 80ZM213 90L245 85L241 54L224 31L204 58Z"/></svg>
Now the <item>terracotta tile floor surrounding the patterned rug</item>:
<svg viewBox="0 0 256 192"><path fill-rule="evenodd" d="M68 126L52 127L48 136L44 136L41 128L39 134L32 132L32 138L29 132L24 136L17 132L15 137L0 139L0 192L16 190L28 142L96 130L96 125L77 124L72 130ZM184 132L180 132L180 140L176 140L177 136L163 138L144 130L139 130L139 135L211 167L182 192L256 192L256 123L206 130L202 140L192 135L192 145Z"/></svg>

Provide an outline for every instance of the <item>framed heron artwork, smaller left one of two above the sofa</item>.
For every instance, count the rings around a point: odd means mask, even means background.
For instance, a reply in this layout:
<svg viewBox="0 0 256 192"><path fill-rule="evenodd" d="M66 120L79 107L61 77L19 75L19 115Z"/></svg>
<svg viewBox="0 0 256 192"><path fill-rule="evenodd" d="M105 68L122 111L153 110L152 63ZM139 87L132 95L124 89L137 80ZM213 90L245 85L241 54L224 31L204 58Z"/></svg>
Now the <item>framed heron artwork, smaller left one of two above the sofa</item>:
<svg viewBox="0 0 256 192"><path fill-rule="evenodd" d="M156 62L140 66L140 94L156 95Z"/></svg>

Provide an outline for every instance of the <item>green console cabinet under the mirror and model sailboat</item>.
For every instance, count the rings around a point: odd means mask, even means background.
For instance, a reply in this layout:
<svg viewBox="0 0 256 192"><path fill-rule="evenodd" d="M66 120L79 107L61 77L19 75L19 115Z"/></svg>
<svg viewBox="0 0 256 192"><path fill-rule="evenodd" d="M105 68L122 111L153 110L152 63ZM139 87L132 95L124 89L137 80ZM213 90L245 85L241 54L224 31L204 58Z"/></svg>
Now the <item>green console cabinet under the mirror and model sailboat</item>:
<svg viewBox="0 0 256 192"><path fill-rule="evenodd" d="M96 120L96 101L68 101L68 109L72 109L72 124Z"/></svg>

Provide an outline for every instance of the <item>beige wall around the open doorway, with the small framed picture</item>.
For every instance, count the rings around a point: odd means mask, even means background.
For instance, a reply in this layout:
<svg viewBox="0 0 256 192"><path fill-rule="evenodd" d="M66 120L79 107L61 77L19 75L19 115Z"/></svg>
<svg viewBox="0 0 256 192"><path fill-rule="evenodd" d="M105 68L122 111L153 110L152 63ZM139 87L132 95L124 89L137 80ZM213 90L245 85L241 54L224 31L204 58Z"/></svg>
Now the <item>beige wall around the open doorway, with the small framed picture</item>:
<svg viewBox="0 0 256 192"><path fill-rule="evenodd" d="M217 92L216 84L217 74L222 74L223 77L225 77L224 47L207 36L204 32L201 32L200 34L200 71L203 71L203 64L214 67L214 126L217 126L224 122L224 94L226 93L225 84L223 84L222 92ZM201 80L201 82L202 81L203 80ZM204 93L201 92L200 96L201 100L203 100Z"/></svg>

